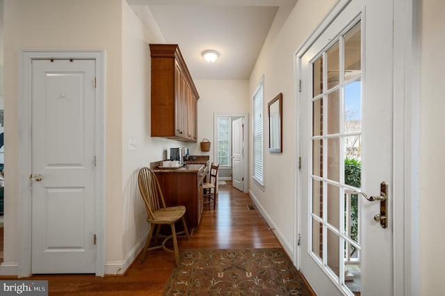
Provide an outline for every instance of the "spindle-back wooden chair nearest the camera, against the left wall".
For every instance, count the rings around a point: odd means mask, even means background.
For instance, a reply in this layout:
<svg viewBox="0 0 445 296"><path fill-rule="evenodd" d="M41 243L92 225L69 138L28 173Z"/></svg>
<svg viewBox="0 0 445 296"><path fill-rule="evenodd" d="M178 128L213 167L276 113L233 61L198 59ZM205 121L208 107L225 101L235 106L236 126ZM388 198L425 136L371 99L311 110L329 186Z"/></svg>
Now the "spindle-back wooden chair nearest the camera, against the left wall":
<svg viewBox="0 0 445 296"><path fill-rule="evenodd" d="M187 240L190 240L190 235L188 234L186 220L184 219L184 214L186 213L185 206L165 206L163 194L161 191L161 186L159 186L159 181L156 175L148 167L143 167L138 173L138 186L140 195L145 204L145 210L147 211L147 222L150 224L150 230L148 233L147 242L145 242L145 247L143 253L140 256L139 263L143 263L145 260L145 254L147 251L152 249L164 249L168 252L175 252L176 264L179 265L179 251L177 235L186 233ZM184 231L176 232L175 222L182 220L182 225L184 226ZM159 236L159 231L161 230L161 225L170 225L172 229L172 235L167 236L163 240L161 245L156 245L154 247L149 247L150 241L153 238L153 233L156 229L155 244ZM174 250L165 247L165 242L173 238Z"/></svg>

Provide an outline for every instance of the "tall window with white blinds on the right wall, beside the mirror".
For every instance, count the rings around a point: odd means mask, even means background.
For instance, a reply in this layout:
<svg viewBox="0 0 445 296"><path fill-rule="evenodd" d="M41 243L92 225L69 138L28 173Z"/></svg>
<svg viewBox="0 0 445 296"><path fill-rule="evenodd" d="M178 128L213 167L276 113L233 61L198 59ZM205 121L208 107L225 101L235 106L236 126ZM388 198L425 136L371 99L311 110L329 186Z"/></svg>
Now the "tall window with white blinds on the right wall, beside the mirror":
<svg viewBox="0 0 445 296"><path fill-rule="evenodd" d="M261 188L263 182L263 88L264 76L253 95L253 174L252 178Z"/></svg>

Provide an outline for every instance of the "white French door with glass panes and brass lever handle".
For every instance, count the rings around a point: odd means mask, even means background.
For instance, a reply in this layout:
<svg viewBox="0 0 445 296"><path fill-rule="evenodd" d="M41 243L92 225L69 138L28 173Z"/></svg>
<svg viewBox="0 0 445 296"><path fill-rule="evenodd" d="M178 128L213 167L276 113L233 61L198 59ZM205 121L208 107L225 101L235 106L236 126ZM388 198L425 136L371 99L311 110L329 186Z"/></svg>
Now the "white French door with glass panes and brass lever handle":
<svg viewBox="0 0 445 296"><path fill-rule="evenodd" d="M298 52L300 270L317 295L392 295L392 1L339 1ZM389 213L389 214L388 214Z"/></svg>

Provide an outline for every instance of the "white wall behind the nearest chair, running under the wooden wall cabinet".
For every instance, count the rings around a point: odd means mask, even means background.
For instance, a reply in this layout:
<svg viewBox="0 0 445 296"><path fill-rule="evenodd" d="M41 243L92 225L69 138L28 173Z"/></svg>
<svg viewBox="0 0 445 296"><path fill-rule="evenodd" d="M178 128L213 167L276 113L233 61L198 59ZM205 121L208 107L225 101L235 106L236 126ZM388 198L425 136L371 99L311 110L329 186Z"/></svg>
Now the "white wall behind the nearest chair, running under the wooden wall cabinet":
<svg viewBox="0 0 445 296"><path fill-rule="evenodd" d="M136 7L134 11L127 1L122 0L122 210L115 213L115 217L119 217L117 220L122 221L122 227L118 228L122 229L119 238L122 240L121 256L126 260L122 265L131 263L132 256L138 252L134 247L148 231L145 207L137 185L138 170L163 160L170 147L186 146L184 142L150 136L149 44L165 43L165 40L157 26L150 22L153 19L147 7ZM152 25L145 28L138 16ZM129 139L136 145L135 151L129 151ZM115 264L120 265L120 262Z"/></svg>

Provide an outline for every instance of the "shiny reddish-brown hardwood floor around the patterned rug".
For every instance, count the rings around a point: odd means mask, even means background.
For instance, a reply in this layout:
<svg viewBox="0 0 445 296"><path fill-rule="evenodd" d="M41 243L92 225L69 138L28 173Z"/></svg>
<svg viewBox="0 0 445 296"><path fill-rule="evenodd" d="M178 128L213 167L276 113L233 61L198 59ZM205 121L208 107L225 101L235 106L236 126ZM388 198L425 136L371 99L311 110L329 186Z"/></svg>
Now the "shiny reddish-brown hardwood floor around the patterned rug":
<svg viewBox="0 0 445 296"><path fill-rule="evenodd" d="M248 209L253 205L249 195L231 183L220 186L216 210L204 205L200 227L191 240L179 238L179 249L282 247L257 208ZM48 280L49 295L161 295L174 264L174 254L155 250L147 253L143 264L134 262L124 275L42 274L28 279Z"/></svg>

